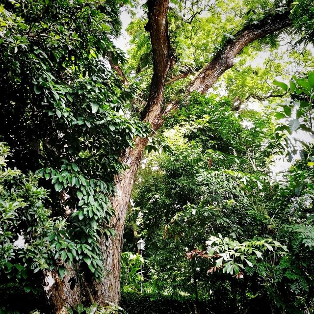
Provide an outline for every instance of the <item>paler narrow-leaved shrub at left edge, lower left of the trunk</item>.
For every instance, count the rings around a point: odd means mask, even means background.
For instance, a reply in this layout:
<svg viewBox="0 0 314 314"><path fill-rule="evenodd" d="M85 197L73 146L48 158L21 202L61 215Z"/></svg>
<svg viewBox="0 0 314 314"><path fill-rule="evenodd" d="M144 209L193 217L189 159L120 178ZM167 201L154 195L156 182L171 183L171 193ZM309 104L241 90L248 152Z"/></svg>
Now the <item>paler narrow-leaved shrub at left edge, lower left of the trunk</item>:
<svg viewBox="0 0 314 314"><path fill-rule="evenodd" d="M52 219L51 210L44 207L48 196L38 187L38 176L7 168L9 155L0 143L0 273L3 282L8 277L29 292L34 289L33 274L54 266L60 242L69 249L74 249L74 244L64 241L68 237L66 221ZM52 237L56 234L58 237ZM66 260L64 245L60 251Z"/></svg>

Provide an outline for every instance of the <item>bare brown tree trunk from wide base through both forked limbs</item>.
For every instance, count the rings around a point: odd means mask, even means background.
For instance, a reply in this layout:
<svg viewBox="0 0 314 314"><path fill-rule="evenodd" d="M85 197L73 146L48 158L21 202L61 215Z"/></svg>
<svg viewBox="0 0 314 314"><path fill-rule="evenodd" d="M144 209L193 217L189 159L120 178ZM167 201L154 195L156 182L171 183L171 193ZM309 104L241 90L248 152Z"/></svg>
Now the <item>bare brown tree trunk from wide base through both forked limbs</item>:
<svg viewBox="0 0 314 314"><path fill-rule="evenodd" d="M142 119L151 124L153 131L157 131L163 124L164 115L178 105L174 103L167 105L165 110L162 108L167 74L175 62L175 57L168 37L167 12L169 0L148 0L147 5L149 21L145 28L151 36L154 74ZM258 25L245 26L192 80L186 94L188 95L193 91L206 93L216 80L234 65L235 56L246 45L291 25L288 15L288 11L277 13L264 18ZM127 149L122 156L122 162L127 169L115 178L116 194L111 199L115 215L110 222L110 227L116 235L108 239L104 236L101 241L104 266L108 270L108 274L104 276L102 282L94 283L93 287L87 285L83 281L84 278L82 278L71 290L68 281L72 277L79 278L76 271L69 269L70 275L66 275L63 281L58 278L56 273L47 272L45 290L50 304L55 305L53 313L66 313L64 312L66 307L75 307L79 303L93 303L96 301L101 306L108 303L119 304L123 229L135 176L147 142L147 138L135 139L134 147Z"/></svg>

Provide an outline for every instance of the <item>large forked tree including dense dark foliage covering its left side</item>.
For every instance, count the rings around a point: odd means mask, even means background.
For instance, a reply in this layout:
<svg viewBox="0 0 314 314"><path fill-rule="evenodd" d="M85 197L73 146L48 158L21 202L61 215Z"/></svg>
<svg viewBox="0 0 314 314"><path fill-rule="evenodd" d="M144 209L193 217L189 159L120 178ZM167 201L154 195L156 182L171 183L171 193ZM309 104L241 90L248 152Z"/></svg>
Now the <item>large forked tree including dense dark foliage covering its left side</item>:
<svg viewBox="0 0 314 314"><path fill-rule="evenodd" d="M243 9L258 2L248 1ZM305 14L290 0L267 3L262 14L249 9L243 16L250 18L198 65L185 96L207 93L247 45L292 26L291 10L294 19ZM21 170L43 168L43 184L53 188L53 215L69 223L65 235L51 237L55 256L43 266L55 313L79 303L119 303L123 229L135 176L149 132L154 135L179 105L176 99L165 104L166 85L193 69L169 77L177 62L169 0L149 0L145 30L152 78L146 104L130 118L125 104L134 89L119 66L123 55L111 41L119 32L119 4L24 0L0 6L1 133ZM212 6L200 2L185 22L193 23ZM296 26L302 35L302 21Z"/></svg>

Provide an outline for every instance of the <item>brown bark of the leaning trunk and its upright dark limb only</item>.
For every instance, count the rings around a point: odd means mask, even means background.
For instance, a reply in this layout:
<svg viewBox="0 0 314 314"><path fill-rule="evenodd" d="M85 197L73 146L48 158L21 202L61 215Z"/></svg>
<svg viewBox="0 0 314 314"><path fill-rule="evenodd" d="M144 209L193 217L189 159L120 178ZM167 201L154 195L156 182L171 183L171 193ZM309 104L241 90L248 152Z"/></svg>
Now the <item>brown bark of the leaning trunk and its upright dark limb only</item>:
<svg viewBox="0 0 314 314"><path fill-rule="evenodd" d="M150 123L152 129L156 131L163 122L161 104L165 81L169 69L175 62L175 57L168 38L167 13L169 0L149 0L147 4L149 13L146 29L150 31L151 36L154 55L154 75L142 119ZM125 217L130 202L132 186L147 142L147 138L138 137L135 139L134 148L129 148L122 157L122 162L127 166L127 169L122 175L115 178L117 192L111 200L115 209L115 216L111 220L110 227L115 230L116 235L108 240L104 239L102 243L105 268L110 273L98 285L97 301L100 304L105 305L106 302L118 304L120 300L121 252Z"/></svg>

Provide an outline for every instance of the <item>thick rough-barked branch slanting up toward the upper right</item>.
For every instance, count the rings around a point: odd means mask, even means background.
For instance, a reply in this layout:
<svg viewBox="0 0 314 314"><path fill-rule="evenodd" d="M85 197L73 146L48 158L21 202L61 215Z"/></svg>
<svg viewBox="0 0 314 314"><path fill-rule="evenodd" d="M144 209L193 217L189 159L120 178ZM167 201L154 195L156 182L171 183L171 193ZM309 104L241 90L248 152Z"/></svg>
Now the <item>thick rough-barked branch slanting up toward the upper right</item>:
<svg viewBox="0 0 314 314"><path fill-rule="evenodd" d="M263 38L268 34L275 33L288 26L292 22L290 12L277 13L267 16L257 25L245 26L235 34L234 39L228 42L218 52L209 64L192 80L187 88L187 94L193 91L206 93L216 80L235 64L235 56L253 41Z"/></svg>

